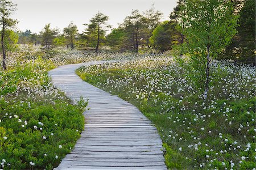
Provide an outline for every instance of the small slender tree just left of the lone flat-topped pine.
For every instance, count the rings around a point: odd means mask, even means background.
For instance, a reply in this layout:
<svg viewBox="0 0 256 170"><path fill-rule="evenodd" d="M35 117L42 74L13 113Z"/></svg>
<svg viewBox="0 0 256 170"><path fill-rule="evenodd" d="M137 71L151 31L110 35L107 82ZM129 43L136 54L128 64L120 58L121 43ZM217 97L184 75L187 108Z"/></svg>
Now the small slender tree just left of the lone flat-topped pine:
<svg viewBox="0 0 256 170"><path fill-rule="evenodd" d="M71 22L68 27L63 29L64 35L67 37L68 42L71 45L71 48L74 48L74 41L75 41L75 37L77 36L77 32L78 29L76 27L76 25Z"/></svg>

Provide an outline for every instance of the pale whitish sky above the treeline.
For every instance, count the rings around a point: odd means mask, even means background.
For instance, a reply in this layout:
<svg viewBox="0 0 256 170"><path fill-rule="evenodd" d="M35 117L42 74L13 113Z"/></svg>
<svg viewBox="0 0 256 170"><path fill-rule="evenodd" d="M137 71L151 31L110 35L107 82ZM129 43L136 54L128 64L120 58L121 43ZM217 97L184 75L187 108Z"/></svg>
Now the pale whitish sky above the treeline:
<svg viewBox="0 0 256 170"><path fill-rule="evenodd" d="M109 16L108 24L117 28L131 10L146 11L154 3L156 10L163 12L163 20L168 20L177 0L13 0L17 10L13 18L19 21L19 31L30 29L32 33L42 31L44 25L51 23L52 28L60 31L70 22L77 25L81 33L98 11Z"/></svg>

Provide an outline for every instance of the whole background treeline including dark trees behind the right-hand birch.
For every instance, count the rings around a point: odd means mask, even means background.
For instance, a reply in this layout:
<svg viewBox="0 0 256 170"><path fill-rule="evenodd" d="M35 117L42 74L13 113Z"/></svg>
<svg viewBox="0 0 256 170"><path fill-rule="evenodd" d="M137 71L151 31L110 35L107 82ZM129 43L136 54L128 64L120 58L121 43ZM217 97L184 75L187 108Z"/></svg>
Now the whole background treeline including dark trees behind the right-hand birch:
<svg viewBox="0 0 256 170"><path fill-rule="evenodd" d="M18 32L18 43L41 44L47 50L53 46L67 46L67 48L94 49L96 52L100 48L121 52L127 50L164 52L176 48L179 44L188 43L183 35L185 2L179 0L170 14L170 20L164 22L160 22L162 12L155 10L154 6L143 12L131 11L118 28L111 28L108 24L109 16L98 12L89 23L84 24L86 28L82 33L78 32L72 22L62 31L47 24L39 34L31 33L30 30ZM232 3L234 14L240 16L237 33L230 45L222 49L217 58L255 63L255 1L234 0ZM106 34L109 31L110 33ZM13 39L16 37L13 36ZM16 42L13 39L9 40L9 44L11 40Z"/></svg>

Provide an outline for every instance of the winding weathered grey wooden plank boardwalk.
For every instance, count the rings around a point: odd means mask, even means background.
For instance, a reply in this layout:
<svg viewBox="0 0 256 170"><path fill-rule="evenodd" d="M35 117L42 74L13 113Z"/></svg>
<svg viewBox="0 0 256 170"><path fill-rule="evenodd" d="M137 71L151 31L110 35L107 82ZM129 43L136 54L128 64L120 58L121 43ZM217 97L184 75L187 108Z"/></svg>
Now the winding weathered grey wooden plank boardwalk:
<svg viewBox="0 0 256 170"><path fill-rule="evenodd" d="M151 122L136 108L76 75L82 65L49 71L52 82L72 101L89 99L85 128L72 152L55 169L167 169L162 141ZM100 62L97 62L100 63Z"/></svg>

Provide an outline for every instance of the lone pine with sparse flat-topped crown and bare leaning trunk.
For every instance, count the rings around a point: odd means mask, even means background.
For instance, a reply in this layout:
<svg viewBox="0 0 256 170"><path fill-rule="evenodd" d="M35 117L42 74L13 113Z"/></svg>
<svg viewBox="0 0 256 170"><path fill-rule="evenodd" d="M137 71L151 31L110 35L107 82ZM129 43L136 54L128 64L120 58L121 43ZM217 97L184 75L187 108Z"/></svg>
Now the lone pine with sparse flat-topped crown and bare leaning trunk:
<svg viewBox="0 0 256 170"><path fill-rule="evenodd" d="M86 31L87 31L86 33L89 36L95 37L95 35L97 35L97 43L96 43L96 48L95 48L96 52L98 52L98 48L100 46L102 37L105 36L105 33L107 31L106 28L111 27L107 23L108 20L109 20L109 16L106 16L106 15L102 14L101 12L98 12L92 19L90 19L89 24L85 24L85 25L88 25L88 28L86 29Z"/></svg>

